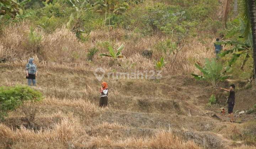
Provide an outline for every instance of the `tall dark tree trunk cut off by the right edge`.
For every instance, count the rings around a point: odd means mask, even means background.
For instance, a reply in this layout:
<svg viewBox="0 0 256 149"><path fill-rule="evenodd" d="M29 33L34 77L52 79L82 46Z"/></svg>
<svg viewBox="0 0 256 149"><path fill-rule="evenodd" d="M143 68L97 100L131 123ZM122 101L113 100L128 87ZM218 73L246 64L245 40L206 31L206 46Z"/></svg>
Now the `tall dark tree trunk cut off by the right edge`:
<svg viewBox="0 0 256 149"><path fill-rule="evenodd" d="M254 74L256 74L256 3L255 0L248 0L249 14L252 30L252 44L253 44L253 59L254 59ZM256 75L255 75L256 77ZM256 78L255 83L256 83Z"/></svg>

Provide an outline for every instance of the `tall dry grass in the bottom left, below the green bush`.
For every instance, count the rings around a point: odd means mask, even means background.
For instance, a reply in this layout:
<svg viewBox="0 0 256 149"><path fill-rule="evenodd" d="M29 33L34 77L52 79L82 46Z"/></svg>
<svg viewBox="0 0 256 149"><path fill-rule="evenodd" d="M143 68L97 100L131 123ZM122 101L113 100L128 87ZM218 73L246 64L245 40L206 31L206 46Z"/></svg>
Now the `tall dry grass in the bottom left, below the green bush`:
<svg viewBox="0 0 256 149"><path fill-rule="evenodd" d="M33 130L21 127L20 129L12 129L4 124L0 124L0 138L5 141L23 141L29 142L41 141L61 142L61 143L82 143L86 140L87 134L81 129L81 125L76 120L64 118L60 124L55 124L54 129L34 132Z"/></svg>

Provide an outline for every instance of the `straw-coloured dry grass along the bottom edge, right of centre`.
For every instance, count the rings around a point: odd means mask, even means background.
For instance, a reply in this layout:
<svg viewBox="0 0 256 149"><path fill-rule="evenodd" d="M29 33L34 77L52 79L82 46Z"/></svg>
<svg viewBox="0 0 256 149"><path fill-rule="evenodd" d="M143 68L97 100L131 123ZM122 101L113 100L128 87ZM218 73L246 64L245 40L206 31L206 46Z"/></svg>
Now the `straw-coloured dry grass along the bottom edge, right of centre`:
<svg viewBox="0 0 256 149"><path fill-rule="evenodd" d="M199 147L191 141L184 141L181 138L175 136L170 131L159 131L155 136L150 138L135 138L129 137L124 140L112 140L112 138L105 137L94 137L91 138L91 148L165 148L165 149L198 149Z"/></svg>

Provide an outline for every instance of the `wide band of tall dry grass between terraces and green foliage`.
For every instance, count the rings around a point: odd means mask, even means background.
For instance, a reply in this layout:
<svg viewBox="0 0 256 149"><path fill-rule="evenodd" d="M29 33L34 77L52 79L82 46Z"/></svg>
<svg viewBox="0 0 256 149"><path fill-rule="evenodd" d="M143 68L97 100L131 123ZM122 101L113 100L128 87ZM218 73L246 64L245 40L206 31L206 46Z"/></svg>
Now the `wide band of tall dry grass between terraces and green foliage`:
<svg viewBox="0 0 256 149"><path fill-rule="evenodd" d="M166 61L162 70L164 75L198 73L194 63L204 64L204 58L214 57L213 41L210 38L184 39L180 45L182 49L174 61L173 54L167 56L155 49L156 44L171 39L171 37L161 34L143 37L138 33L124 31L119 28L110 31L106 29L92 31L90 40L86 43L79 42L75 35L65 28L57 29L52 34L44 34L36 29L36 32L41 34L43 38L40 44L40 52L33 53L28 42L29 28L30 23L27 21L7 27L4 34L0 36L0 57L10 57L12 63L17 65L25 65L29 57L38 57L38 66L72 67L78 70L91 70L96 66L106 68L107 71L132 72L134 70L156 70L156 62L159 61L161 56L164 56ZM124 38L125 35L129 38ZM121 44L125 45L123 50L125 57L118 60L121 67L112 65L111 59L108 57L98 56L99 53L107 52L106 47L101 46L101 43L105 41L110 42L114 48ZM96 47L100 51L95 55L94 62L88 62L86 54L92 47ZM141 53L143 50L149 49L153 50L153 57L146 59Z"/></svg>

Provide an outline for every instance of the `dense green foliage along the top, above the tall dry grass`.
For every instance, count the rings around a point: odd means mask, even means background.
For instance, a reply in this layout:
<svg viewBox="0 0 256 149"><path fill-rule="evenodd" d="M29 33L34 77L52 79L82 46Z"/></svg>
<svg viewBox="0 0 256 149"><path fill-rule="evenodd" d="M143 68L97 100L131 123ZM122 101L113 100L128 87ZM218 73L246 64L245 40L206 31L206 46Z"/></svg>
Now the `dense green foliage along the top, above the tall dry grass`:
<svg viewBox="0 0 256 149"><path fill-rule="evenodd" d="M75 32L87 33L107 26L139 29L139 32L144 34L160 31L166 34L185 35L188 32L195 34L194 29L202 27L203 24L219 27L216 21L209 18L218 6L217 1L180 0L168 2L169 5L159 1L155 4L141 5L143 2L146 3L142 0L30 0L12 6L16 15L16 11L21 10L16 7L26 4L22 15L46 32L52 32L66 23ZM14 2L10 0L10 3ZM0 15L10 16L7 12Z"/></svg>

